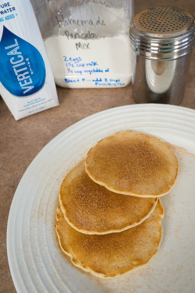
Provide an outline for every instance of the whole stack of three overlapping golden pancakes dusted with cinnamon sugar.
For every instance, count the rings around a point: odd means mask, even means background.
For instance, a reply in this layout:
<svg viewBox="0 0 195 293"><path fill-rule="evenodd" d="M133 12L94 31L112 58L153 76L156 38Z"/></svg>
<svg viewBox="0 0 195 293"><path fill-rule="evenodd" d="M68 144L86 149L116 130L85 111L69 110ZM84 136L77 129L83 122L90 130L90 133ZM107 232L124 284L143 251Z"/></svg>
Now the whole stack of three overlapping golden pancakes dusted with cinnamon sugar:
<svg viewBox="0 0 195 293"><path fill-rule="evenodd" d="M64 178L56 232L74 265L97 277L145 265L162 241L164 209L178 174L171 149L132 131L99 141Z"/></svg>

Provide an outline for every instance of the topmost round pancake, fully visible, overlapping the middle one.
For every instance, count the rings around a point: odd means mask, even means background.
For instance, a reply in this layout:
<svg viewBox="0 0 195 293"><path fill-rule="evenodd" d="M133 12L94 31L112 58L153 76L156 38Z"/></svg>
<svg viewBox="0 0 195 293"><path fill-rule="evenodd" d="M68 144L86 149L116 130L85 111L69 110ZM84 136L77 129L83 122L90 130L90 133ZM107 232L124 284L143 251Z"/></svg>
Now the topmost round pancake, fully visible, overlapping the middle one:
<svg viewBox="0 0 195 293"><path fill-rule="evenodd" d="M156 137L117 132L92 147L85 171L96 183L120 194L159 197L169 193L178 175L178 161Z"/></svg>

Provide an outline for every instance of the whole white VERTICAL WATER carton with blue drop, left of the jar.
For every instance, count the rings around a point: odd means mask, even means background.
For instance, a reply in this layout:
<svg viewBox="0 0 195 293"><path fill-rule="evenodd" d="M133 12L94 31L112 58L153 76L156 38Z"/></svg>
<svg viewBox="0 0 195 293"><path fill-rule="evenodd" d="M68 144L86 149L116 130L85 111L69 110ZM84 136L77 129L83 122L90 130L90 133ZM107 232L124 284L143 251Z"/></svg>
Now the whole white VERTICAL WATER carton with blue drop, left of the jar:
<svg viewBox="0 0 195 293"><path fill-rule="evenodd" d="M0 0L0 94L16 120L59 105L28 0Z"/></svg>

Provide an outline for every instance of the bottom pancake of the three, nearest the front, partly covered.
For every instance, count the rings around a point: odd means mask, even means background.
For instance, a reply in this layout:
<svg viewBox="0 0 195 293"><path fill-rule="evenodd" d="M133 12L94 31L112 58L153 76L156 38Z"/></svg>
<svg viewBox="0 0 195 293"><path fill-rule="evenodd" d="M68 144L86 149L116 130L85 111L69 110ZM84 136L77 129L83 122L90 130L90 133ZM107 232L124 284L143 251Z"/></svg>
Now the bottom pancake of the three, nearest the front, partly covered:
<svg viewBox="0 0 195 293"><path fill-rule="evenodd" d="M58 205L56 232L61 249L74 265L97 277L112 278L147 264L157 253L163 216L159 199L154 212L140 225L120 233L87 235L67 223Z"/></svg>

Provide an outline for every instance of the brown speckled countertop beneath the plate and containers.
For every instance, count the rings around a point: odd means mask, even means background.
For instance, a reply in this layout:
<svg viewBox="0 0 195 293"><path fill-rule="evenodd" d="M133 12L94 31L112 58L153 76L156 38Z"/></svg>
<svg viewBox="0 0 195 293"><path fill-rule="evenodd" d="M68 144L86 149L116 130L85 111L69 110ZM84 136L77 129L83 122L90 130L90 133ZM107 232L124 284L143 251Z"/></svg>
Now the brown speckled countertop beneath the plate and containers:
<svg viewBox="0 0 195 293"><path fill-rule="evenodd" d="M152 1L149 1L152 3ZM153 1L154 2L154 1ZM167 1L165 1L167 2ZM178 1L183 2L183 1ZM166 5L166 3L164 4ZM170 5L170 1L169 1ZM140 6L140 5L139 5ZM150 5L151 6L156 6ZM176 5L175 5L176 6ZM177 5L182 7L182 5ZM186 1L193 13L194 2ZM145 9L136 8L136 13ZM195 109L195 51L192 55L184 100L180 104ZM38 152L58 133L73 123L94 113L122 105L135 104L132 86L114 89L57 88L60 105L15 121L0 98L0 292L16 293L11 279L6 252L6 228L9 208L16 187L28 165ZM18 292L19 293L19 292Z"/></svg>

